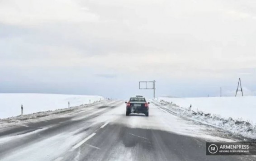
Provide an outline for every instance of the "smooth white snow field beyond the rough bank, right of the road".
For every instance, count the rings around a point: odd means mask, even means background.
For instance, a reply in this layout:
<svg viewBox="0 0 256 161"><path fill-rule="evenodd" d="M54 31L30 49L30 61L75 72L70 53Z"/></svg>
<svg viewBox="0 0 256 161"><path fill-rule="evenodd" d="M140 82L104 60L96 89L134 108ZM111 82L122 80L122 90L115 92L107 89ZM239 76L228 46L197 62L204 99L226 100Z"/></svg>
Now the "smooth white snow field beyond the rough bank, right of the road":
<svg viewBox="0 0 256 161"><path fill-rule="evenodd" d="M222 118L243 119L256 123L256 96L247 97L204 97L204 98L168 98L160 97L167 102L173 102L180 107L192 105L193 111L216 114Z"/></svg>

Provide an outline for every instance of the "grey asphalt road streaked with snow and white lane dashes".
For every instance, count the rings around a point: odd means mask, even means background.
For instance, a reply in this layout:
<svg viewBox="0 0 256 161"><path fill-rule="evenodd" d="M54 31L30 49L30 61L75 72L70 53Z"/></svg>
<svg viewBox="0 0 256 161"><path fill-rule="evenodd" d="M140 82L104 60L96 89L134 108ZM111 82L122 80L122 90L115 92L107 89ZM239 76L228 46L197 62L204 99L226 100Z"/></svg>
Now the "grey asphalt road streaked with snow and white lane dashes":
<svg viewBox="0 0 256 161"><path fill-rule="evenodd" d="M206 142L236 139L175 116L159 104L150 104L149 117L125 116L124 101L109 101L86 111L0 128L0 161L256 160L254 156L206 156Z"/></svg>

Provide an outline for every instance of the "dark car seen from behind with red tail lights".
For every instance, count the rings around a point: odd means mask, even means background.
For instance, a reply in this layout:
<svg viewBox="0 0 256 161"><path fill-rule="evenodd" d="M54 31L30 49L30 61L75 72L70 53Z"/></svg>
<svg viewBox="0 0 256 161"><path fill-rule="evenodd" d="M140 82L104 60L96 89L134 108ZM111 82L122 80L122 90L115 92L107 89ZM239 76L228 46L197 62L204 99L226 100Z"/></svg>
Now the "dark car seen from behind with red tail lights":
<svg viewBox="0 0 256 161"><path fill-rule="evenodd" d="M129 114L145 114L148 116L148 104L144 97L131 97L126 103L126 116Z"/></svg>

